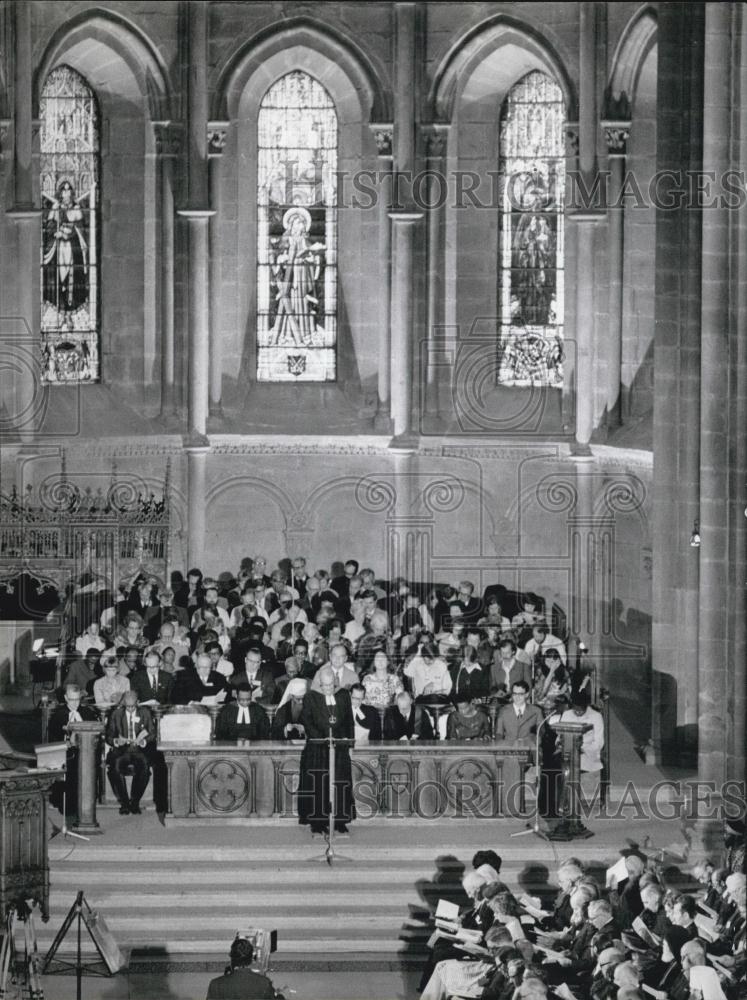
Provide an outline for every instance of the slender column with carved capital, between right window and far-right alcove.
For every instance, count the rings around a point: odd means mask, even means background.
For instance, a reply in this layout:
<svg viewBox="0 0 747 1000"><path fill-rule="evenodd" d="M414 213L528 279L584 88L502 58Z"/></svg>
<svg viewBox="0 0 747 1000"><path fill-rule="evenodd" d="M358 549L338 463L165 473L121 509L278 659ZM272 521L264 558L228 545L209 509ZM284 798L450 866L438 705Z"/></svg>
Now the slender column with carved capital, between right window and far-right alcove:
<svg viewBox="0 0 747 1000"><path fill-rule="evenodd" d="M607 191L607 232L609 254L609 326L607 330L607 427L619 427L623 421L622 401L622 319L623 251L625 214L621 201L625 176L625 144L630 122L602 122L609 159Z"/></svg>

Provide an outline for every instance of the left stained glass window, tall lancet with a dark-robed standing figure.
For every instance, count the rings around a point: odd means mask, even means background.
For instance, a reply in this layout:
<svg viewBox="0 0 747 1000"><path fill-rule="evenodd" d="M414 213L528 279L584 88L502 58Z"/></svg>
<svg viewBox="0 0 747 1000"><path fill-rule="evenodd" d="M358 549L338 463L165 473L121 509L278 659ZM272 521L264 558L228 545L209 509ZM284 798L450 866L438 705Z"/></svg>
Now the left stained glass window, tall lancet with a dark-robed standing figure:
<svg viewBox="0 0 747 1000"><path fill-rule="evenodd" d="M99 361L99 113L83 77L59 66L41 94L41 369L47 383L96 382Z"/></svg>

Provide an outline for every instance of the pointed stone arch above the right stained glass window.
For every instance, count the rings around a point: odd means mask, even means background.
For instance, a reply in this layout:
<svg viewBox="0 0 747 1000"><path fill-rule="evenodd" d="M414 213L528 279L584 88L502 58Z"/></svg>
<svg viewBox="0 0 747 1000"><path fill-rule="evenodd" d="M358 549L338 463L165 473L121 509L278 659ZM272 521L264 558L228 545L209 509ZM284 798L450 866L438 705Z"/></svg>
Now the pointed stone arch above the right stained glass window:
<svg viewBox="0 0 747 1000"><path fill-rule="evenodd" d="M460 93L475 72L482 64L489 65L491 57L507 47L523 55L524 65L513 67L509 60L500 75L491 72L496 93L507 90L530 69L539 69L557 82L563 91L568 117L572 118L576 108L575 92L555 46L538 27L506 14L496 14L469 29L441 61L428 95L428 111L432 120L451 121Z"/></svg>

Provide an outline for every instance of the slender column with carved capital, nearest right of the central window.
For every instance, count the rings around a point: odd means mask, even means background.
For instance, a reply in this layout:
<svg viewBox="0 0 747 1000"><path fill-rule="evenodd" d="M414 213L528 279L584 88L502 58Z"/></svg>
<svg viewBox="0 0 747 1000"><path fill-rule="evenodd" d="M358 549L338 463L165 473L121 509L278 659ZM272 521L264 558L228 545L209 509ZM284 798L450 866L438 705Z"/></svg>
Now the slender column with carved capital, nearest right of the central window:
<svg viewBox="0 0 747 1000"><path fill-rule="evenodd" d="M381 287L381 304L383 309L379 315L379 371L377 385L377 406L374 417L374 429L386 434L392 433L392 418L390 413L391 398L391 331L389 327L391 312L391 253L392 224L389 210L392 203L392 136L394 126L377 123L371 125L376 141L378 158L378 192L379 192L379 281Z"/></svg>

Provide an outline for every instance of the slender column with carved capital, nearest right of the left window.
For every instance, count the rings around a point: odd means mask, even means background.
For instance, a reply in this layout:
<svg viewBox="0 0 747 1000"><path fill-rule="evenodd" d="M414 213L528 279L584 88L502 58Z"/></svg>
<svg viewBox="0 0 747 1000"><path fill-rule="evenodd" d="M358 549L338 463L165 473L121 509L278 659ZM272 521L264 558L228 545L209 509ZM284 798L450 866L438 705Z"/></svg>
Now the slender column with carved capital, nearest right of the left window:
<svg viewBox="0 0 747 1000"><path fill-rule="evenodd" d="M171 423L176 416L174 392L174 159L181 149L173 122L153 122L158 158L160 215L161 413Z"/></svg>

